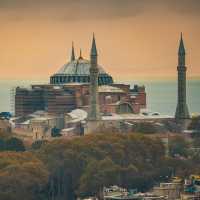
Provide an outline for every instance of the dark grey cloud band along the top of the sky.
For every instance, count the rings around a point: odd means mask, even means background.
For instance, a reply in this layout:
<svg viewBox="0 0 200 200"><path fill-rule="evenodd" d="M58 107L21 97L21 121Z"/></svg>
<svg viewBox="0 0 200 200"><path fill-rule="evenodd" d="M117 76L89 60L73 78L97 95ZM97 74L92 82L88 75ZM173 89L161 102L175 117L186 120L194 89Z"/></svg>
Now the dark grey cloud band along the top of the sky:
<svg viewBox="0 0 200 200"><path fill-rule="evenodd" d="M0 0L7 19L84 20L134 17L173 12L200 15L199 0Z"/></svg>

